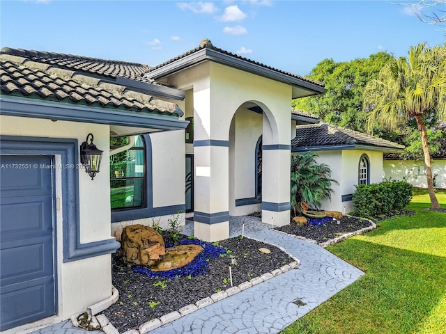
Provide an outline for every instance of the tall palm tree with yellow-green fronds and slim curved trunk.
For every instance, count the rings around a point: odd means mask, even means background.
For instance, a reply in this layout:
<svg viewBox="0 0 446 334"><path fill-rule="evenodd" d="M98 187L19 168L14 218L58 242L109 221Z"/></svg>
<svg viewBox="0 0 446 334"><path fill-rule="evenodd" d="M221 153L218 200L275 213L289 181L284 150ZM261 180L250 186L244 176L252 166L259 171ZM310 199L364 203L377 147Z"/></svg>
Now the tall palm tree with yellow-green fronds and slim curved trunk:
<svg viewBox="0 0 446 334"><path fill-rule="evenodd" d="M363 110L368 112L369 129L376 122L387 129L396 129L415 118L422 141L431 206L439 209L433 191L424 118L436 114L438 119L446 119L446 45L429 48L423 42L410 47L407 59L387 63L378 79L369 81L364 89Z"/></svg>

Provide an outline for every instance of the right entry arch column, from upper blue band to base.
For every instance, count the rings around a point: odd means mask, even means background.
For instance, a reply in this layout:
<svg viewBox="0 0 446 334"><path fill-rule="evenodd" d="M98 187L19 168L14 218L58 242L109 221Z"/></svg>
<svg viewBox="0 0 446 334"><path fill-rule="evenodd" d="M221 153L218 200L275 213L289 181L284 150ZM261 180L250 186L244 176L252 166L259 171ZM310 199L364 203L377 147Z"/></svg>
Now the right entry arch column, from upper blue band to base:
<svg viewBox="0 0 446 334"><path fill-rule="evenodd" d="M263 145L262 222L290 222L291 145Z"/></svg>

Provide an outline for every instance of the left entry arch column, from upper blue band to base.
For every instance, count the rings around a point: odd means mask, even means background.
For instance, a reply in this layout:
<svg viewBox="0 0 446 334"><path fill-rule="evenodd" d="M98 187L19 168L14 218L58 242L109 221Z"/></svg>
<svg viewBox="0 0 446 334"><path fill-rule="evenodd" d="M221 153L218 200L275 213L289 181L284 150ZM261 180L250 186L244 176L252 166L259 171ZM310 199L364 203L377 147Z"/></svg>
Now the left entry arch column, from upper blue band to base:
<svg viewBox="0 0 446 334"><path fill-rule="evenodd" d="M229 238L229 141L194 142L194 235Z"/></svg>

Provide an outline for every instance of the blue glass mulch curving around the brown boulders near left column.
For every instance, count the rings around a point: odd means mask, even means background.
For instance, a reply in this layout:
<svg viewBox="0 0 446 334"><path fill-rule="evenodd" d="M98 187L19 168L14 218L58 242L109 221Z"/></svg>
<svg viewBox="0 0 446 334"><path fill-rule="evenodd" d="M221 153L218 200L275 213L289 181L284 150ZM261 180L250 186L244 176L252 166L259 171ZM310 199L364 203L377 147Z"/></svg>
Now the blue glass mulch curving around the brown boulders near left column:
<svg viewBox="0 0 446 334"><path fill-rule="evenodd" d="M215 246L206 241L199 239L183 239L178 242L180 245L199 245L203 248L201 252L188 264L183 267L171 269L167 271L151 271L148 267L134 266L132 271L141 273L148 278L176 278L185 276L199 276L208 272L208 261L217 259L222 254L226 254L226 249ZM166 248L173 247L173 244L165 244Z"/></svg>

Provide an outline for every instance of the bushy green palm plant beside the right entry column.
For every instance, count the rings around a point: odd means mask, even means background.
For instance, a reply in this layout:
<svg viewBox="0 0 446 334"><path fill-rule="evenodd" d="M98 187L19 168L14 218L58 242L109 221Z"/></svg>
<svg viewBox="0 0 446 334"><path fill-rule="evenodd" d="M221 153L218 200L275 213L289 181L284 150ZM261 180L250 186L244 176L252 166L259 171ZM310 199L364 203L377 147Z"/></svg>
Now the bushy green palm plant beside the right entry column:
<svg viewBox="0 0 446 334"><path fill-rule="evenodd" d="M332 170L326 164L318 164L314 152L291 156L291 207L294 214L299 210L301 202L310 207L321 208L323 200L329 200L333 192Z"/></svg>

